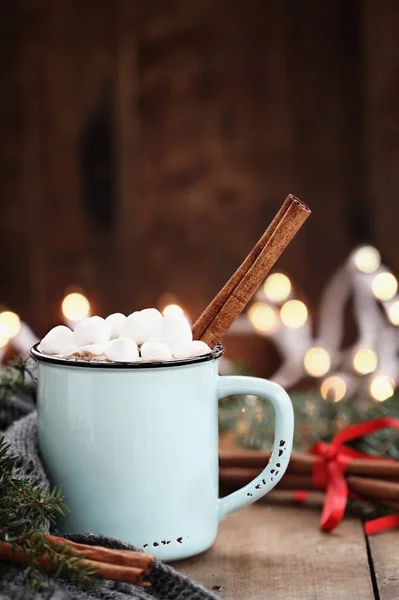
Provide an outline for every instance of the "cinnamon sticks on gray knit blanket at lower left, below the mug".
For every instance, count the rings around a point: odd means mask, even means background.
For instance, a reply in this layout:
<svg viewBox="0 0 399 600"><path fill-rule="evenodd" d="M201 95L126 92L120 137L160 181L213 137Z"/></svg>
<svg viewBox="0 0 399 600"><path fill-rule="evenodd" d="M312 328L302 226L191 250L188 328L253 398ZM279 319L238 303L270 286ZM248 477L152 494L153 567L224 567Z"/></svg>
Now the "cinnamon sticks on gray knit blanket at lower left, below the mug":
<svg viewBox="0 0 399 600"><path fill-rule="evenodd" d="M95 577L111 579L113 581L126 581L140 586L149 586L144 581L152 567L153 557L143 552L129 550L114 550L101 546L77 544L54 535L46 535L46 541L51 546L66 546L82 558L75 563L78 567L90 567L95 571ZM28 564L28 557L22 546L13 546L8 542L0 542L0 560L6 560L19 565ZM38 566L43 570L55 572L58 568L56 561L50 561L47 554L37 559Z"/></svg>

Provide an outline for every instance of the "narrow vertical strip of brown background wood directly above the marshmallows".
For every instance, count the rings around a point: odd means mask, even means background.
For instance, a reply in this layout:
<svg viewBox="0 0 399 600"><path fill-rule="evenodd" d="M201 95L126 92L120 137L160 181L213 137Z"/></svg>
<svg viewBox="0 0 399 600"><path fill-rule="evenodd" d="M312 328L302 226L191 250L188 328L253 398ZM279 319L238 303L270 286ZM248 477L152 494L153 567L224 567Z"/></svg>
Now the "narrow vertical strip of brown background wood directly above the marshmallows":
<svg viewBox="0 0 399 600"><path fill-rule="evenodd" d="M115 294L111 312L130 314L136 287L142 281L143 263L134 255L145 241L141 236L141 206L145 198L140 186L140 77L137 56L137 2L118 0L116 56L117 211ZM133 284L133 285L132 285ZM144 284L147 285L147 284Z"/></svg>

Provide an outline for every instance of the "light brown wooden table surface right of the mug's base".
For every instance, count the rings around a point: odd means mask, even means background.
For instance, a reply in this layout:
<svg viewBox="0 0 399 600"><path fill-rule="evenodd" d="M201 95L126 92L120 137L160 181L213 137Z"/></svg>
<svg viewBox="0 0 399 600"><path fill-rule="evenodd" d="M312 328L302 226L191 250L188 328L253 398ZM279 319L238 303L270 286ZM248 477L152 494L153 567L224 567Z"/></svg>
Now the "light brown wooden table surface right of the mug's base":
<svg viewBox="0 0 399 600"><path fill-rule="evenodd" d="M345 517L330 534L320 507L257 503L220 524L213 548L175 563L226 600L398 600L399 530L366 539Z"/></svg>

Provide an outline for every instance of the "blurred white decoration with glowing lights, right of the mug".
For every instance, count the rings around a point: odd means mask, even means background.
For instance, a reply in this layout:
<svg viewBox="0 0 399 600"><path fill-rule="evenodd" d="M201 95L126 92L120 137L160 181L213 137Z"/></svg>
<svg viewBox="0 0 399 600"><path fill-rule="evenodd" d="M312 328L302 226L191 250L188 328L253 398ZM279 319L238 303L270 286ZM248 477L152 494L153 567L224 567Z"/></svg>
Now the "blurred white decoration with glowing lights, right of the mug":
<svg viewBox="0 0 399 600"><path fill-rule="evenodd" d="M291 282L281 273L266 279L247 315L230 331L248 334L255 330L274 341L282 364L271 379L285 387L292 387L307 373L323 377L325 398L338 402L366 385L375 400L383 401L399 383L397 291L396 277L381 265L378 250L361 246L324 290L316 337L305 305L294 298ZM345 307L351 296L358 338L352 348L343 349ZM345 370L335 372L339 365Z"/></svg>

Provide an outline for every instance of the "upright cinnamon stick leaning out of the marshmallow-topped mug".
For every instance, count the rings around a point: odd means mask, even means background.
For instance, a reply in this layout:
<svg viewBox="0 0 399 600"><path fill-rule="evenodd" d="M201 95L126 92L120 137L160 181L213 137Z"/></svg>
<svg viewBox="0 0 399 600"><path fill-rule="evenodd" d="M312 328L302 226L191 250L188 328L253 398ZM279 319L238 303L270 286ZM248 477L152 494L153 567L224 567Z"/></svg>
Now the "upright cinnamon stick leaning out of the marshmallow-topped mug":
<svg viewBox="0 0 399 600"><path fill-rule="evenodd" d="M270 227L195 322L194 339L211 348L219 342L309 215L303 202L292 194L287 197Z"/></svg>

